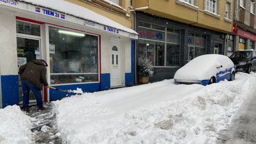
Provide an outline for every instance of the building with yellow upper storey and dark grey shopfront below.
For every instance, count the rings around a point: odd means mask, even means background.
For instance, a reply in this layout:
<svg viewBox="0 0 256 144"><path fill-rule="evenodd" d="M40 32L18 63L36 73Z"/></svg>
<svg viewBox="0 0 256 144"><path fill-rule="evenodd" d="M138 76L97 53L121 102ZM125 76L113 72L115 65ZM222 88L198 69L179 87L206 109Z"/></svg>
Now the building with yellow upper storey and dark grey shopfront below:
<svg viewBox="0 0 256 144"><path fill-rule="evenodd" d="M226 54L225 39L233 28L233 1L133 1L136 63L154 65L150 81L173 78L191 59L209 53Z"/></svg>

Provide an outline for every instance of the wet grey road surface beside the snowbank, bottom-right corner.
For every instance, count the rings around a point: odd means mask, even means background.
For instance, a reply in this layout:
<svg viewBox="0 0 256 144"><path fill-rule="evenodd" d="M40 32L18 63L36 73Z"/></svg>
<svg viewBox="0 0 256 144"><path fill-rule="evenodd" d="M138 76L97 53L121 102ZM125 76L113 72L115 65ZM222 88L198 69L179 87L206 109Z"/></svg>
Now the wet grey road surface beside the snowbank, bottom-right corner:
<svg viewBox="0 0 256 144"><path fill-rule="evenodd" d="M218 143L256 143L256 94L248 98L239 108L227 130L220 132Z"/></svg>

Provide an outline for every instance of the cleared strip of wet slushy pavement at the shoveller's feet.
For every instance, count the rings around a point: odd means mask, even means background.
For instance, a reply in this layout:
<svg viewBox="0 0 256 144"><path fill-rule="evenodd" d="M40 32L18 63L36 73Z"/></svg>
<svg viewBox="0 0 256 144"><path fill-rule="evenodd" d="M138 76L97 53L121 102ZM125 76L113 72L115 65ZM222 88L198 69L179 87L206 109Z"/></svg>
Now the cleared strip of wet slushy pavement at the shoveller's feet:
<svg viewBox="0 0 256 144"><path fill-rule="evenodd" d="M26 113L31 117L31 131L33 143L36 144L61 144L61 133L56 124L56 116L53 113L51 103L45 103L45 110L38 111L37 107L30 107Z"/></svg>

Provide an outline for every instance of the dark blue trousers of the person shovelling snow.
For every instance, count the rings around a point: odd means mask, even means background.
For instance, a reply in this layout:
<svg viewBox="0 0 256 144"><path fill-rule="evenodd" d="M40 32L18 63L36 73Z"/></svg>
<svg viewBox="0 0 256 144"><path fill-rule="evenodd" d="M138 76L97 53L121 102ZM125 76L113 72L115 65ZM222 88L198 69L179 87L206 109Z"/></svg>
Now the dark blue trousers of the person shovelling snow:
<svg viewBox="0 0 256 144"><path fill-rule="evenodd" d="M42 94L41 90L35 86L34 84L31 84L28 81L21 80L22 84L22 91L23 91L23 108L29 108L29 91L33 91L36 97L36 105L39 108L43 107L43 100L42 100Z"/></svg>

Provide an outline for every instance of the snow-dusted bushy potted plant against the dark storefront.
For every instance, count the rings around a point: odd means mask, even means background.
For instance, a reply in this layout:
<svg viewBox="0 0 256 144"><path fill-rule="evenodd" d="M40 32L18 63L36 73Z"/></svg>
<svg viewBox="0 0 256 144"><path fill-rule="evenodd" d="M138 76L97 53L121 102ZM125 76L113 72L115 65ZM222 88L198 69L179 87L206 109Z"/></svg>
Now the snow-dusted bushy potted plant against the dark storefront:
<svg viewBox="0 0 256 144"><path fill-rule="evenodd" d="M146 84L148 83L148 78L153 76L153 65L149 59L139 59L138 61L138 76L139 83Z"/></svg>

